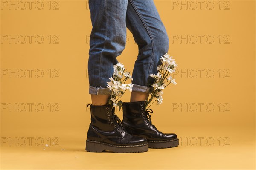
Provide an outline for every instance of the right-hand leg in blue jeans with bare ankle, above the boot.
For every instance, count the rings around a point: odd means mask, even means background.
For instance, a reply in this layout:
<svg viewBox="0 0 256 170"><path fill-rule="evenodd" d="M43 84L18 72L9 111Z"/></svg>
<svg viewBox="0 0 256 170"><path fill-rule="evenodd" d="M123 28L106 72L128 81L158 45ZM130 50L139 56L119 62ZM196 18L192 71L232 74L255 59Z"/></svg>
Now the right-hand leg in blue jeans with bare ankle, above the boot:
<svg viewBox="0 0 256 170"><path fill-rule="evenodd" d="M153 0L129 0L126 26L138 44L139 53L132 74L131 101L145 101L151 92L160 57L168 52L169 38Z"/></svg>

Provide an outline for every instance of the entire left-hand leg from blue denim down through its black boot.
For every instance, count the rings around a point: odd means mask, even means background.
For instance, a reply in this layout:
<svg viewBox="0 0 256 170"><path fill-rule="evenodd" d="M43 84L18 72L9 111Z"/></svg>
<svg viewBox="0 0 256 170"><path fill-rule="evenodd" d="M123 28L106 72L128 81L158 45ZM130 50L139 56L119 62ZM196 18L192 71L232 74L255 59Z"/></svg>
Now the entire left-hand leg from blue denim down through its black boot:
<svg viewBox="0 0 256 170"><path fill-rule="evenodd" d="M106 88L112 76L116 57L126 41L125 15L128 0L89 0L93 29L90 36L88 61L91 123L87 131L86 150L118 153L145 152L145 138L128 134L120 119L107 104L110 90ZM101 106L98 106L101 105Z"/></svg>

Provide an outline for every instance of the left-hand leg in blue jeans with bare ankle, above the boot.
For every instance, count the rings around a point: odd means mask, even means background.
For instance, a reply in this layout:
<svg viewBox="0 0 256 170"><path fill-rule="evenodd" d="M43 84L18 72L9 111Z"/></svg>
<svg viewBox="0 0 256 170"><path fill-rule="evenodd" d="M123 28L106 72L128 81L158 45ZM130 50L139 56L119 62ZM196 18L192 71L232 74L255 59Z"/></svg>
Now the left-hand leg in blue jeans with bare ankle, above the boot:
<svg viewBox="0 0 256 170"><path fill-rule="evenodd" d="M126 10L128 0L89 0L92 31L88 61L89 94L93 105L106 104L106 88L113 65L126 43Z"/></svg>

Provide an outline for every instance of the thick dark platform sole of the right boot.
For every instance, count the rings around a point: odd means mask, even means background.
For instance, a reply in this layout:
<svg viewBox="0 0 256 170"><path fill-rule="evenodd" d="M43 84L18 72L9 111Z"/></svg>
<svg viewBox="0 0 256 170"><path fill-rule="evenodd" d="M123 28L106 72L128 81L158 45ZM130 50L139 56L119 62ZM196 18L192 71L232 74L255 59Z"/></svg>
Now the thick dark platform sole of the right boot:
<svg viewBox="0 0 256 170"><path fill-rule="evenodd" d="M169 147L177 147L179 145L179 139L172 139L167 141L147 141L148 147L152 149L163 149Z"/></svg>

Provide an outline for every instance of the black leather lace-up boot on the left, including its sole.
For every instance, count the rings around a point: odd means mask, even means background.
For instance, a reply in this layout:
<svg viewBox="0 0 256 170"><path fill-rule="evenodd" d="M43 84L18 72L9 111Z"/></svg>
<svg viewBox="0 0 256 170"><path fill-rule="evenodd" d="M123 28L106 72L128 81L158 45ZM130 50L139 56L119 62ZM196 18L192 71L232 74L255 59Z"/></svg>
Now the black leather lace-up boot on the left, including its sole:
<svg viewBox="0 0 256 170"><path fill-rule="evenodd" d="M90 152L109 150L116 153L148 151L147 140L127 133L122 127L121 120L114 114L114 109L111 112L109 104L101 106L90 104L90 112L91 123L85 150Z"/></svg>

